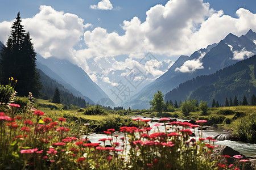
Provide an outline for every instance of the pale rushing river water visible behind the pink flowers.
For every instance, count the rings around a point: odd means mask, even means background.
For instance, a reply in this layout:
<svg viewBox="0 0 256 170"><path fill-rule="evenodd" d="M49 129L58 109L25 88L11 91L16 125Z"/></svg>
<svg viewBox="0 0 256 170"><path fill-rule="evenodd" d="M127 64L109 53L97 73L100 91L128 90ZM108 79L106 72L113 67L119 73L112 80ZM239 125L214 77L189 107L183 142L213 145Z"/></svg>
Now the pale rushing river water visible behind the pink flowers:
<svg viewBox="0 0 256 170"><path fill-rule="evenodd" d="M151 119L151 118L143 118L143 119ZM154 120L159 120L158 118L154 118ZM179 120L177 119L177 121L185 121L185 120ZM154 124L156 124L157 122L148 122L148 124L150 125L150 127L152 128L150 133L156 133L158 132L158 128L154 127ZM164 126L158 126L160 131L165 132L164 130ZM170 128L170 130L168 130L168 132L171 132L172 129ZM193 131L193 130L192 130ZM196 139L199 139L199 133L200 131L196 128L195 129L195 134ZM223 129L209 129L209 130L203 130L203 138L207 138L207 137L215 137L218 134L225 134L226 132ZM118 135L117 137L117 142L122 143L121 141L121 137L124 137L123 133L114 133L114 135ZM98 133L91 133L88 134L88 139L92 142L92 143L98 143L98 139L102 139L102 138L107 138L106 134L98 134ZM114 138L114 142L116 138ZM103 145L103 143L101 143ZM110 145L109 141L106 141L106 145ZM241 154L245 155L245 156L253 156L256 155L256 144L253 143L244 143L244 142L236 142L236 141L229 141L229 140L225 140L225 141L217 141L214 142L214 145L226 145L229 146L231 148L233 148L234 150L240 152Z"/></svg>

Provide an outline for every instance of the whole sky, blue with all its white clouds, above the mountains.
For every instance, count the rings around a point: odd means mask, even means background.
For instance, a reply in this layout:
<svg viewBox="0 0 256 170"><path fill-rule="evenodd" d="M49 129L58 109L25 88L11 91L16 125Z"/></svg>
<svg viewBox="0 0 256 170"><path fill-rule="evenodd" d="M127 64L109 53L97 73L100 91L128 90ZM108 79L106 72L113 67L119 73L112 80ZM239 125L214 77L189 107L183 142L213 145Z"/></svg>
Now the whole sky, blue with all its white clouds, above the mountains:
<svg viewBox="0 0 256 170"><path fill-rule="evenodd" d="M255 0L9 0L0 6L4 44L18 11L38 54L77 64L108 95L134 67L147 75L144 86L180 55L190 56L230 32L256 32ZM148 52L157 59L148 63L158 62L151 73L139 62Z"/></svg>

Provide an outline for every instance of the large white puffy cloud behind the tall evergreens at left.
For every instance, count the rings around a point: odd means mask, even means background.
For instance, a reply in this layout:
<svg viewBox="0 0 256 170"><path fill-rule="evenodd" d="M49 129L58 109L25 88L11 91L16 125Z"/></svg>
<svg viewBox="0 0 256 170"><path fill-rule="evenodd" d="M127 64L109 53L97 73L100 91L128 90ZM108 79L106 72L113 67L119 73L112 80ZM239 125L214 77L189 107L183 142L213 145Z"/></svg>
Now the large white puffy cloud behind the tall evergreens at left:
<svg viewBox="0 0 256 170"><path fill-rule="evenodd" d="M73 59L73 46L81 40L84 28L83 19L77 15L56 11L51 6L40 6L40 12L32 18L22 20L24 29L30 32L36 52L47 58ZM0 23L0 39L7 40L12 22ZM4 33L3 33L4 32Z"/></svg>

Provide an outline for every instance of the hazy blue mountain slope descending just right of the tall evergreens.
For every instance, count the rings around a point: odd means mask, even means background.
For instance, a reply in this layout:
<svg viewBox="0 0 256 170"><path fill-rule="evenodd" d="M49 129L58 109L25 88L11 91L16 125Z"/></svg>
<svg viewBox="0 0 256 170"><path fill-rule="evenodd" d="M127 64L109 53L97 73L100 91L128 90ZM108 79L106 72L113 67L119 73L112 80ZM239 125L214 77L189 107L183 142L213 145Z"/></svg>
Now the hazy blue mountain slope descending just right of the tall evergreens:
<svg viewBox="0 0 256 170"><path fill-rule="evenodd" d="M75 90L81 92L83 96L87 96L97 103L101 99L109 99L108 95L101 90L96 83L82 70L79 66L73 65L67 60L61 60L54 57L43 58L38 55L38 66L49 77L63 84L64 86L72 86ZM50 74L49 70L46 70L47 66L55 74Z"/></svg>

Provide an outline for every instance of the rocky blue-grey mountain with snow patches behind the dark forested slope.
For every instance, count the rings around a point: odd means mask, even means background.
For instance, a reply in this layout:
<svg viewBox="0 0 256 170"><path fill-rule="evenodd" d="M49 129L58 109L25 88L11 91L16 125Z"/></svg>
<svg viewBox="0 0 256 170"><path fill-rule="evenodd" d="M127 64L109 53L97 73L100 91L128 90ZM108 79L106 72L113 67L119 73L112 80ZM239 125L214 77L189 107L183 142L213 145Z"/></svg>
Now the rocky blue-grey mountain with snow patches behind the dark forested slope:
<svg viewBox="0 0 256 170"><path fill-rule="evenodd" d="M148 101L152 100L157 90L166 94L180 83L196 78L196 76L215 73L253 54L256 54L255 32L250 29L246 35L241 37L229 33L217 44L197 50L191 56L180 56L166 73L131 97L123 107L149 108Z"/></svg>

